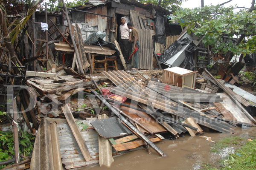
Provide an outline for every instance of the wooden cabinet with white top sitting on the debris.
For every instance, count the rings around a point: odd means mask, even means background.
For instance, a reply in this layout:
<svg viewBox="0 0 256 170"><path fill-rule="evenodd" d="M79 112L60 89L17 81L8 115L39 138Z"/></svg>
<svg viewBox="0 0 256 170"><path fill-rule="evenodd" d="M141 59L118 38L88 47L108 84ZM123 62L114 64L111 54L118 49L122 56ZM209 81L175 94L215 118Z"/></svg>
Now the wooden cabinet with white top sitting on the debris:
<svg viewBox="0 0 256 170"><path fill-rule="evenodd" d="M177 87L195 88L195 75L197 71L191 71L180 67L166 68L163 72L163 82Z"/></svg>

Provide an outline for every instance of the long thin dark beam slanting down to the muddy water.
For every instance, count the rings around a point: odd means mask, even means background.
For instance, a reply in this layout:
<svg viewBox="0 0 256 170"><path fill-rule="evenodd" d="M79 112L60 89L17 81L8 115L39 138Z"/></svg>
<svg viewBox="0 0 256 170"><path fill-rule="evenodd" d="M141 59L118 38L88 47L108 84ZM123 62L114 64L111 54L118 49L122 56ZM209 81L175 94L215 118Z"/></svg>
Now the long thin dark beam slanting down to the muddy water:
<svg viewBox="0 0 256 170"><path fill-rule="evenodd" d="M153 142L151 142L143 133L141 133L134 125L132 125L130 122L128 122L125 117L123 117L119 111L117 111L113 106L111 106L102 96L100 96L96 91L91 90L93 94L95 94L116 116L119 117L128 127L130 127L137 136L139 136L141 139L143 139L144 142L146 142L149 146L151 146L157 153L159 153L161 156L166 156L165 153L163 153L162 150L160 150L157 145L155 145Z"/></svg>

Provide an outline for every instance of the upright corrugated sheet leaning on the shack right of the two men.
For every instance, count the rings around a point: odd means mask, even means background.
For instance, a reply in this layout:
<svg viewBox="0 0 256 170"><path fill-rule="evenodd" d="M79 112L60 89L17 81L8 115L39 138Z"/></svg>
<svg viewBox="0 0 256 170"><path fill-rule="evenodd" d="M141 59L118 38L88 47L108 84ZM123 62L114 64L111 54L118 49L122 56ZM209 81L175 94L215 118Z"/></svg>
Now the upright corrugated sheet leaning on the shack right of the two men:
<svg viewBox="0 0 256 170"><path fill-rule="evenodd" d="M147 29L138 29L140 37L140 58L138 67L141 69L153 68L153 40L151 31Z"/></svg>

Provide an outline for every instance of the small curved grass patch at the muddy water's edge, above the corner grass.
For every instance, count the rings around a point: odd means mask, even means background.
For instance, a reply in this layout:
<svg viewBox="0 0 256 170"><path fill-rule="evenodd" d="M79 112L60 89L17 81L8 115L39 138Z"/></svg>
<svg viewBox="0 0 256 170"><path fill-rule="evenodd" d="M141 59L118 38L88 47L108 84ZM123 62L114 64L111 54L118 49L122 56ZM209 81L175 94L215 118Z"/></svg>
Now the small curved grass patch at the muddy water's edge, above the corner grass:
<svg viewBox="0 0 256 170"><path fill-rule="evenodd" d="M245 141L245 138L242 138L240 136L227 137L216 142L210 151L214 153L219 153L221 152L221 149L225 147L241 146L243 144L243 141Z"/></svg>

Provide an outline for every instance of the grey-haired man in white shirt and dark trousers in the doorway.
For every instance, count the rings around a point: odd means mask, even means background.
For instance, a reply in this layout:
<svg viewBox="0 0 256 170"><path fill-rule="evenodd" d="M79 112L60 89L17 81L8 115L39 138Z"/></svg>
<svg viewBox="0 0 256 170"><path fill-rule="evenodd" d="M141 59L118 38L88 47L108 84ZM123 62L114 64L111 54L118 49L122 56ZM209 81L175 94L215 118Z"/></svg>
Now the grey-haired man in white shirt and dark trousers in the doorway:
<svg viewBox="0 0 256 170"><path fill-rule="evenodd" d="M128 62L129 59L129 37L130 37L130 29L125 22L125 17L121 18L121 25L120 25L120 35L121 40L119 42L122 54L125 58L125 62Z"/></svg>

